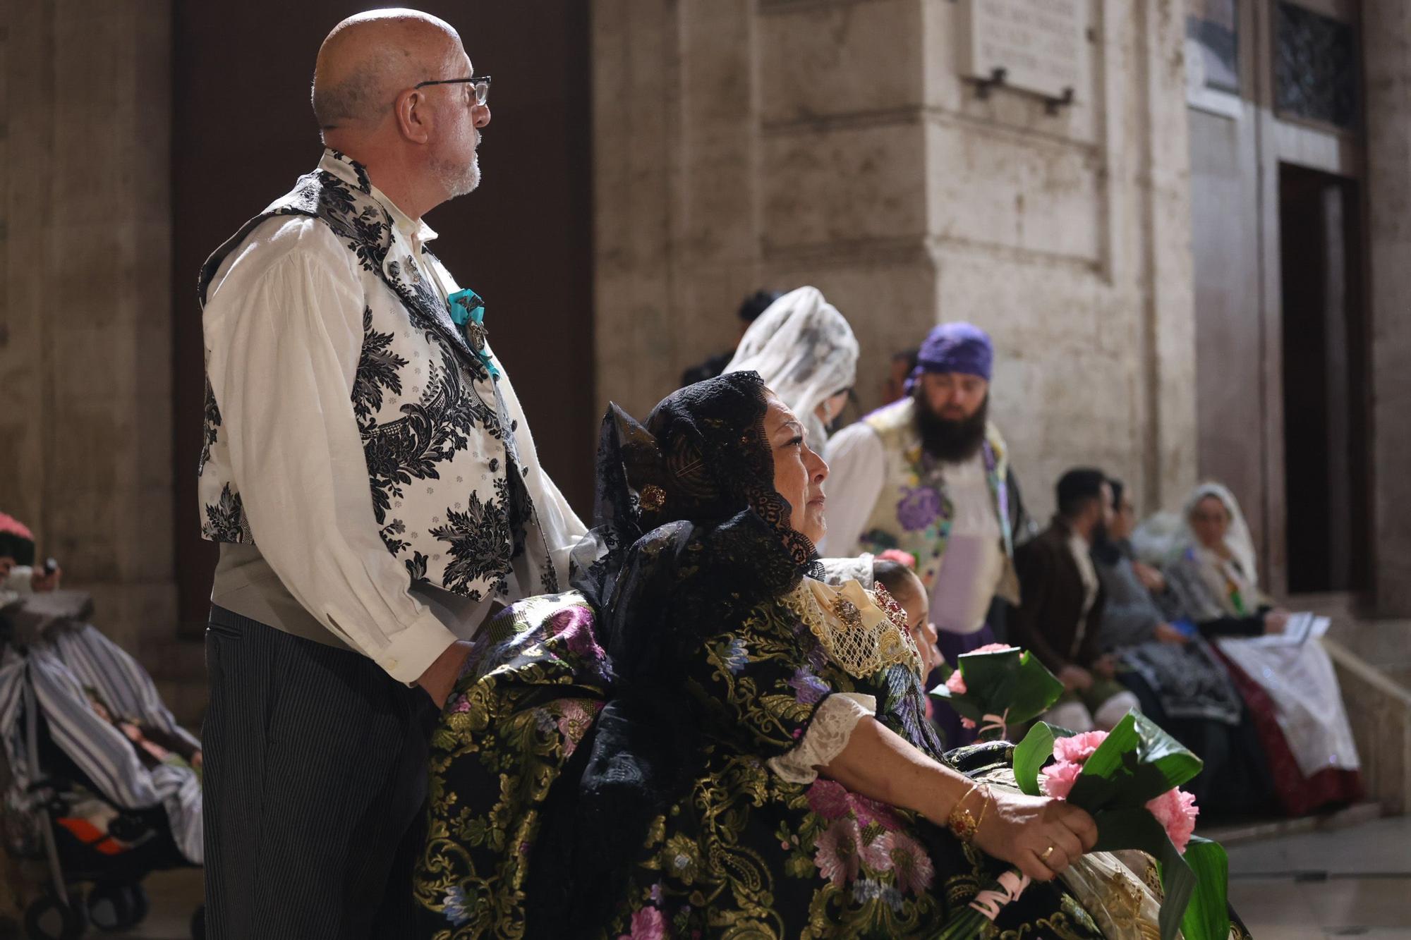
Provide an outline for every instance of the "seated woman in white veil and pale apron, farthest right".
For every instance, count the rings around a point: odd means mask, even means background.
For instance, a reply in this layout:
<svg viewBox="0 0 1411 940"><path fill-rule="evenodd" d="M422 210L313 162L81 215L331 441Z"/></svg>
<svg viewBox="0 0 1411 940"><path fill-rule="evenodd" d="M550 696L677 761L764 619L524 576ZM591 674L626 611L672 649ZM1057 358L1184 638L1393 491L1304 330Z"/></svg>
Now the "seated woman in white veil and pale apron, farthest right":
<svg viewBox="0 0 1411 940"><path fill-rule="evenodd" d="M1259 590L1254 542L1239 502L1219 483L1204 483L1182 511L1184 529L1164 567L1178 610L1216 637L1230 679L1254 716L1276 793L1301 816L1362 796L1357 747L1342 689L1316 639L1268 642L1288 614Z"/></svg>

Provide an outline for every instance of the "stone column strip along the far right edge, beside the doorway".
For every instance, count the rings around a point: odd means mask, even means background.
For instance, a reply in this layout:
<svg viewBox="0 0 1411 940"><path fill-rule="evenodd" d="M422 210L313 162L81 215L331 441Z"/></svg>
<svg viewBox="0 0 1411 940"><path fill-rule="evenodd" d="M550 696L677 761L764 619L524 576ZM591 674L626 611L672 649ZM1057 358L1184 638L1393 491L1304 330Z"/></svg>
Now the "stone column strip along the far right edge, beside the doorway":
<svg viewBox="0 0 1411 940"><path fill-rule="evenodd" d="M1411 617L1411 6L1362 4L1377 613Z"/></svg>

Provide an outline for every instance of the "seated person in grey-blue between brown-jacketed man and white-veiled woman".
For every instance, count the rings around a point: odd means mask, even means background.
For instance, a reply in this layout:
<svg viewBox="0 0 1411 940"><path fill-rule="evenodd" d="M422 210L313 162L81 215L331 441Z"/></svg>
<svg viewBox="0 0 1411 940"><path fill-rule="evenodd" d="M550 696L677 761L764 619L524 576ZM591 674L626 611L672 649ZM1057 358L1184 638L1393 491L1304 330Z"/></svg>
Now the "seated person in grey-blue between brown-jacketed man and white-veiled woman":
<svg viewBox="0 0 1411 940"><path fill-rule="evenodd" d="M1118 680L1137 696L1143 714L1205 761L1185 785L1202 819L1260 810L1273 796L1273 779L1253 717L1219 653L1184 621L1161 573L1133 556L1132 491L1120 480L1108 484L1112 524L1092 549L1106 596L1102 648L1118 656Z"/></svg>

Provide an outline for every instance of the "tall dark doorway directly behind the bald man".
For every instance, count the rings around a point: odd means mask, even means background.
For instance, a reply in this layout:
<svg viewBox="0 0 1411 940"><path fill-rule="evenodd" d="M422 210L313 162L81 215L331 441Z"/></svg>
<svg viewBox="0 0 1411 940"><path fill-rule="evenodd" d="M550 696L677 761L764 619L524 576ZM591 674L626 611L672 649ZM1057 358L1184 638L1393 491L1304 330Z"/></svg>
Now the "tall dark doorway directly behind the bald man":
<svg viewBox="0 0 1411 940"><path fill-rule="evenodd" d="M214 548L200 539L196 459L202 336L196 271L322 152L309 109L319 44L354 0L175 3L172 38L175 546L183 631L209 610ZM495 78L484 183L428 216L436 254L485 298L545 469L591 508L593 207L588 4L423 0Z"/></svg>

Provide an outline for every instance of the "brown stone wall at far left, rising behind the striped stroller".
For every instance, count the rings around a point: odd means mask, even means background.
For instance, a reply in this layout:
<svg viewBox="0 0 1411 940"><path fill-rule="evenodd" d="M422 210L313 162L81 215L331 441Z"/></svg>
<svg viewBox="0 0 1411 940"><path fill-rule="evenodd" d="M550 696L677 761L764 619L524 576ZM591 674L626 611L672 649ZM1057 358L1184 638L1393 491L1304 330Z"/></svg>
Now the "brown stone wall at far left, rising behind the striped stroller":
<svg viewBox="0 0 1411 940"><path fill-rule="evenodd" d="M0 10L0 510L134 649L175 617L169 10Z"/></svg>

